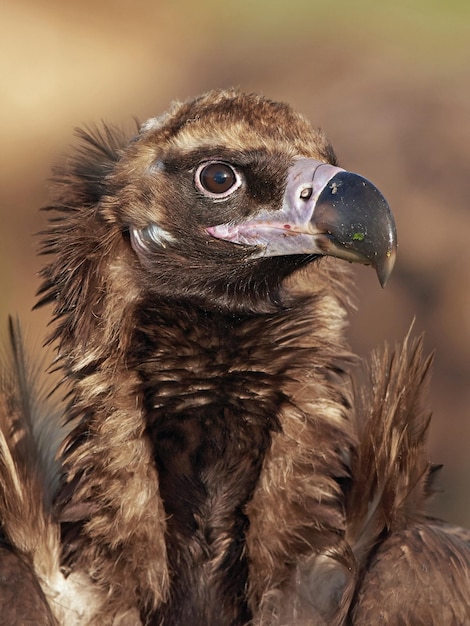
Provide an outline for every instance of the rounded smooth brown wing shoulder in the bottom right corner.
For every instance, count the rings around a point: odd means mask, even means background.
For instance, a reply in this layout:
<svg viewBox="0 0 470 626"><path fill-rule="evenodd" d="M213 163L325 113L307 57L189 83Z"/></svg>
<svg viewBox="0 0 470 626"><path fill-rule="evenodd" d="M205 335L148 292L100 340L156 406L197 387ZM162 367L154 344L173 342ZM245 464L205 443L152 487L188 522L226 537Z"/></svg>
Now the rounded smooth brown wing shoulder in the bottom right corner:
<svg viewBox="0 0 470 626"><path fill-rule="evenodd" d="M369 556L351 623L470 623L470 544L423 520L389 534Z"/></svg>

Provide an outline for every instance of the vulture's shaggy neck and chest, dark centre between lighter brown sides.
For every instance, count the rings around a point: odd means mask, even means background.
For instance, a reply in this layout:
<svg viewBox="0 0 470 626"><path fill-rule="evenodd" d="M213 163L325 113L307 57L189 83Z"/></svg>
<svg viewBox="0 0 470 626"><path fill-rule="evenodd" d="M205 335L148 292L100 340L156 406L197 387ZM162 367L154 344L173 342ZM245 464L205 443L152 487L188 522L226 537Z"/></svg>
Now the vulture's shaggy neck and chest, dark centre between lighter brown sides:
<svg viewBox="0 0 470 626"><path fill-rule="evenodd" d="M150 623L247 623L264 586L344 531L342 327L325 293L243 315L139 302L129 336L69 364L64 564Z"/></svg>

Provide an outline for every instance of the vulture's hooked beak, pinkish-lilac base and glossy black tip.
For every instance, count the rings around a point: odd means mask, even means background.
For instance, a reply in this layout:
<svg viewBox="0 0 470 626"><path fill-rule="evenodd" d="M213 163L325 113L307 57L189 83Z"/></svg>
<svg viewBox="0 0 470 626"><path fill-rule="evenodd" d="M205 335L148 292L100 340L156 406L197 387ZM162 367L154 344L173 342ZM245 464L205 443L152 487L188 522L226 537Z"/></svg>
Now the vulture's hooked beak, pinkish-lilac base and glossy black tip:
<svg viewBox="0 0 470 626"><path fill-rule="evenodd" d="M257 246L255 257L319 254L372 265L382 287L397 249L395 221L377 187L358 174L306 158L289 168L281 209L207 231Z"/></svg>

